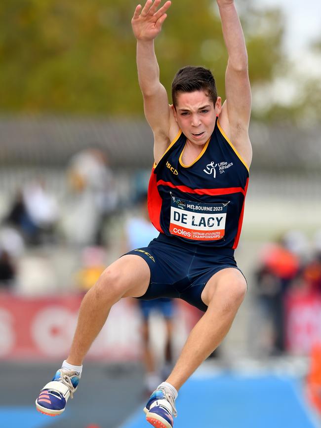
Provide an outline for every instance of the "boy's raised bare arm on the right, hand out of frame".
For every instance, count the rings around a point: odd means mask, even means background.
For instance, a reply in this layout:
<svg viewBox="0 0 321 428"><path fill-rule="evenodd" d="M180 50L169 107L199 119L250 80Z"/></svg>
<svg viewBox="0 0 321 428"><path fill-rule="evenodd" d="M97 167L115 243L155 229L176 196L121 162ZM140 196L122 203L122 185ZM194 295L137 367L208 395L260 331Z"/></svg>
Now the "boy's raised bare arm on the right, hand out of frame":
<svg viewBox="0 0 321 428"><path fill-rule="evenodd" d="M226 102L219 119L233 145L249 165L252 159L248 137L251 90L246 46L234 0L217 0L217 4L229 56L225 75Z"/></svg>

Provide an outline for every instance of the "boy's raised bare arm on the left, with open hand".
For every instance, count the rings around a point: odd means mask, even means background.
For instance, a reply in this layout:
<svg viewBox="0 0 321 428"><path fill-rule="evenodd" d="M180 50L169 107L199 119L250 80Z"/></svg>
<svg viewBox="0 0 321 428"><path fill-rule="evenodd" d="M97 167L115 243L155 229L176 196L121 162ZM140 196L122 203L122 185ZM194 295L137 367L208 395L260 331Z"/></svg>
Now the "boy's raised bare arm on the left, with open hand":
<svg viewBox="0 0 321 428"><path fill-rule="evenodd" d="M145 117L154 133L154 157L158 162L169 142L170 110L168 96L160 82L160 69L154 50L154 39L160 34L171 2L159 8L161 0L147 0L139 4L131 20L137 39L138 81L144 98Z"/></svg>

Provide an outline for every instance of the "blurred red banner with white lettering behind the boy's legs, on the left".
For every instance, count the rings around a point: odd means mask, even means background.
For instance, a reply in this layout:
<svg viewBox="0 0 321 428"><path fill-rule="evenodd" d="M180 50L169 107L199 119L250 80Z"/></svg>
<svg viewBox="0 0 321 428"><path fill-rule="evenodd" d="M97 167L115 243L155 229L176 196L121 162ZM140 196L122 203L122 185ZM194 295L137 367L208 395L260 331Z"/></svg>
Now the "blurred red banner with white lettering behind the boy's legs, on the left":
<svg viewBox="0 0 321 428"><path fill-rule="evenodd" d="M82 296L26 298L0 293L0 359L57 359L68 355ZM175 315L177 345L192 328L188 304ZM192 309L192 308L191 308ZM141 357L141 317L134 299L113 306L88 358L137 360Z"/></svg>

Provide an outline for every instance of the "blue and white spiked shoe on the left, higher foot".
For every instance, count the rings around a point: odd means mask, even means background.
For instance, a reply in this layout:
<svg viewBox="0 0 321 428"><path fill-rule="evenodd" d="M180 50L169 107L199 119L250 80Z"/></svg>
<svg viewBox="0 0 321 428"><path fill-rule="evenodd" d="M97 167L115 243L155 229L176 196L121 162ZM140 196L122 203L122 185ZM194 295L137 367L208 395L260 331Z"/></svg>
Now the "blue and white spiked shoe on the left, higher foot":
<svg viewBox="0 0 321 428"><path fill-rule="evenodd" d="M73 398L79 380L79 372L59 369L52 381L41 389L36 400L37 410L48 416L60 415L65 410L68 398Z"/></svg>

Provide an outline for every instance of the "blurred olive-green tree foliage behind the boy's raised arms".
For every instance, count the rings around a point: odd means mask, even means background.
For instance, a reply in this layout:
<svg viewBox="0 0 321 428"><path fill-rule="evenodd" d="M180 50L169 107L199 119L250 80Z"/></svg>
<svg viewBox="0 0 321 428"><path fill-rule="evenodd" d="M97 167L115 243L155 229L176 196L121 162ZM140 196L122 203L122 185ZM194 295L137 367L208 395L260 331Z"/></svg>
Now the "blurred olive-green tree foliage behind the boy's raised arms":
<svg viewBox="0 0 321 428"><path fill-rule="evenodd" d="M134 0L2 0L0 110L23 113L142 114L130 20ZM282 61L280 12L247 7L242 24L252 84ZM156 41L170 93L187 64L213 70L224 97L227 55L215 2L175 0Z"/></svg>

